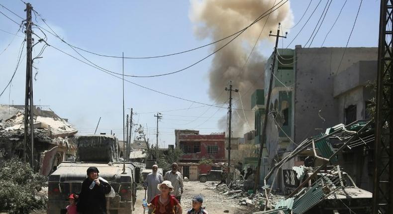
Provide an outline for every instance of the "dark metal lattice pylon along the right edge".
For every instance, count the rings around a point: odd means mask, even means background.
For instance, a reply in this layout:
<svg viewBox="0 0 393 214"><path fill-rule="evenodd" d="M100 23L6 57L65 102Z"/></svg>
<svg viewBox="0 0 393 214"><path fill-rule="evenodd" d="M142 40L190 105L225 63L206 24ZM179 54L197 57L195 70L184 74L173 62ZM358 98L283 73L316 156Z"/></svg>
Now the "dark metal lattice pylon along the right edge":
<svg viewBox="0 0 393 214"><path fill-rule="evenodd" d="M393 214L392 0L381 0L372 214Z"/></svg>

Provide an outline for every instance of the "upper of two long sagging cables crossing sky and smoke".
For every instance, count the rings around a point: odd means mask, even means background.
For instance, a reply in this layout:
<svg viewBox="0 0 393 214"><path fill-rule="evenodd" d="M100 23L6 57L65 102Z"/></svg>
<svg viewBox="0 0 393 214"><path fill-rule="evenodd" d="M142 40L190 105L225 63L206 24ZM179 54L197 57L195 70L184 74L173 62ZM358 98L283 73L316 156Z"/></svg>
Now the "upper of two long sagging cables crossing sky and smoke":
<svg viewBox="0 0 393 214"><path fill-rule="evenodd" d="M282 1L283 1L283 0L281 0L281 1L280 1L279 3L277 3L276 5L274 5L271 9L273 9L275 6L277 6L278 4L280 4ZM287 1L288 1L288 0L286 0L286 2L287 2ZM279 6L279 7L280 7L280 6ZM271 9L268 9L267 11L269 11L269 10L271 10ZM262 13L262 15L265 14L267 11L265 11L264 13ZM49 25L45 22L45 19L42 18L42 16L41 16L36 10L33 9L33 12L35 12L36 15L38 15L38 16L44 21L44 23L49 27ZM220 41L225 40L225 39L227 39L227 38L230 38L230 37L232 37L232 36L234 36L234 35L236 35L236 34L238 34L238 33L243 32L243 31L246 30L248 27L250 27L251 25L253 25L253 24L255 24L256 22L258 22L258 21L261 19L261 16L262 16L262 15L260 15L260 16L259 16L257 19L255 19L250 25L244 27L243 29L241 29L241 30L239 30L239 31L237 31L237 32L235 32L235 33L229 35L229 36L223 37L223 38L221 38L221 39L219 39L219 40L216 40L216 41L214 41L214 42L211 42L211 43L208 43L208 44L205 44L205 45L196 47L196 48L192 48L192 49L185 50L185 51L181 51L181 52L177 52L177 53L165 54L165 55L147 56L147 57L124 57L124 59L151 59L151 58L161 58L161 57L168 57L168 56L173 56L173 55L178 55L178 54L183 54L183 53L191 52L191 51L194 51L194 50L197 50L197 49L200 49L200 48L203 48L203 47L206 47L206 46L215 44L215 43L217 43L217 42L220 42ZM50 27L49 27L49 28L50 28ZM50 28L50 29L51 29L51 28ZM52 30L52 29L51 29L51 30ZM52 30L52 31L53 31L53 30ZM56 34L56 33L55 33L55 34ZM57 36L58 36L58 35L57 35ZM62 39L62 40L63 40L63 39ZM64 41L64 40L63 40L63 41ZM64 41L64 42L66 43L66 41ZM88 50L86 50L86 49L83 49L83 48L80 48L80 47L77 47L77 46L74 46L74 45L71 45L71 44L69 44L69 45L72 46L72 47L74 47L74 48L76 48L76 49L79 49L79 50L82 50L82 51L85 51L85 52L87 52L87 53L94 54L94 55L97 55L97 56L101 56L101 57L122 58L122 56L111 56L111 55L98 54L98 53L95 53L95 52L92 52L92 51L88 51Z"/></svg>

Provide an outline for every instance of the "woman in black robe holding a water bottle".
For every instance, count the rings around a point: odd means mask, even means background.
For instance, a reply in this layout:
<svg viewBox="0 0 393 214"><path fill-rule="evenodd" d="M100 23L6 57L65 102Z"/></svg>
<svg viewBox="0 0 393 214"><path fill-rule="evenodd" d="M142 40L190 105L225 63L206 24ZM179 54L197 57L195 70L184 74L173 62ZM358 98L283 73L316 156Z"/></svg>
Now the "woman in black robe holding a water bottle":
<svg viewBox="0 0 393 214"><path fill-rule="evenodd" d="M110 192L111 187L98 173L97 167L89 167L87 170L88 177L83 181L78 196L77 210L81 214L106 214L105 194Z"/></svg>

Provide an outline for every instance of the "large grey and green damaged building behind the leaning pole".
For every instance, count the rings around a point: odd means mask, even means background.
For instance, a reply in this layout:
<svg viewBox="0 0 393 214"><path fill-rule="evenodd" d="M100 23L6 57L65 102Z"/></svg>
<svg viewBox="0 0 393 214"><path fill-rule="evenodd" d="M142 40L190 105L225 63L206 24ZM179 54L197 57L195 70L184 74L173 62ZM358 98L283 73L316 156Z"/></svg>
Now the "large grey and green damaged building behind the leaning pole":
<svg viewBox="0 0 393 214"><path fill-rule="evenodd" d="M378 48L346 48L340 60L343 51L344 48L302 48L300 45L295 49L278 49L260 183L276 161L308 136L317 136L338 123L347 125L369 118L368 107L374 92L367 85L376 78ZM273 55L266 64L271 65L272 60ZM256 90L251 99L258 148L271 75L270 66L265 68L265 88ZM340 154L340 160L347 162L343 164L356 169L350 173L355 182L366 189L369 189L366 177L370 172L365 163L372 161L369 153L362 147ZM309 152L304 151L295 161L301 165L308 155ZM282 178L279 173L280 176Z"/></svg>

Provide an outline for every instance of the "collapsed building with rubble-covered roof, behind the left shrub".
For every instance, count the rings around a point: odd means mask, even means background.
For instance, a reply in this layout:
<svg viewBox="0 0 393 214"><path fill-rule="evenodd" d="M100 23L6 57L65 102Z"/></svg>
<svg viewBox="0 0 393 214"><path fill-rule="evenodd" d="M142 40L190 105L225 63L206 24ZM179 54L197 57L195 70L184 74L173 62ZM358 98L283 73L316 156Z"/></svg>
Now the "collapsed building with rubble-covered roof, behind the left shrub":
<svg viewBox="0 0 393 214"><path fill-rule="evenodd" d="M24 106L0 105L0 159L24 157ZM77 130L52 110L33 107L34 171L48 176L75 156Z"/></svg>

